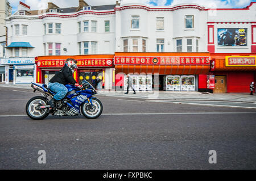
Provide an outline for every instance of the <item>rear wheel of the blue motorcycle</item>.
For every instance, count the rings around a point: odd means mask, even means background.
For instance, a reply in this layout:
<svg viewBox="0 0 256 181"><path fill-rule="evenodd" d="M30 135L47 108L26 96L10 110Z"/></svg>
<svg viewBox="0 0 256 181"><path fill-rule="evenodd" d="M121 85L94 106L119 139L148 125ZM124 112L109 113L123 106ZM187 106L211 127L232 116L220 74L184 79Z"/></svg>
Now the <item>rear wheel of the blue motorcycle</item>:
<svg viewBox="0 0 256 181"><path fill-rule="evenodd" d="M35 96L34 98L31 98L28 100L26 105L26 113L27 116L34 120L42 120L46 118L49 115L49 112L47 112L47 109L39 110L38 108L40 106L46 106L47 105L47 99L43 96Z"/></svg>

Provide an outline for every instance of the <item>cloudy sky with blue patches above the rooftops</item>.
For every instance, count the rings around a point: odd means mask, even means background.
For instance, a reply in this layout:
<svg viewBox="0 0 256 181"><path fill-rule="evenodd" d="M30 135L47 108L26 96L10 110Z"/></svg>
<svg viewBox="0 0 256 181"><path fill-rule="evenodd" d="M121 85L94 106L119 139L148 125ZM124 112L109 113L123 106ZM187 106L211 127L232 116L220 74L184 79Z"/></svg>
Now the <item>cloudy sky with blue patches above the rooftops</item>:
<svg viewBox="0 0 256 181"><path fill-rule="evenodd" d="M53 2L59 7L77 7L79 0L9 0L16 11L19 1L26 3L31 10L47 9L47 2ZM114 5L116 0L84 0L88 5ZM180 3L197 3L205 8L243 8L256 0L122 0L124 3L143 3L147 6L173 6Z"/></svg>

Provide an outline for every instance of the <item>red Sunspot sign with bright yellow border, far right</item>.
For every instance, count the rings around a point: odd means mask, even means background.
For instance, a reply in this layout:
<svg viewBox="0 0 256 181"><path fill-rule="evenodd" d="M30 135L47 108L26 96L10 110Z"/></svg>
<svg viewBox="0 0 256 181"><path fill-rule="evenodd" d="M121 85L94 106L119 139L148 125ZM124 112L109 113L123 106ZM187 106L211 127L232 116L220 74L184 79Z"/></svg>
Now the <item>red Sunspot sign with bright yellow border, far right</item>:
<svg viewBox="0 0 256 181"><path fill-rule="evenodd" d="M226 66L256 66L256 56L226 56Z"/></svg>

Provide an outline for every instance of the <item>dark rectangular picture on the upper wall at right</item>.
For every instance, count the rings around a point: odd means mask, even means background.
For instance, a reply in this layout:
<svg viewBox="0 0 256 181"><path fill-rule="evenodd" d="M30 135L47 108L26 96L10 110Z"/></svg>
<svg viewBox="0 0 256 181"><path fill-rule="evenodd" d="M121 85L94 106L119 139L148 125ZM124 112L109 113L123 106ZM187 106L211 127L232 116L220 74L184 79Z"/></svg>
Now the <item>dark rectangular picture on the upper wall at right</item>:
<svg viewBox="0 0 256 181"><path fill-rule="evenodd" d="M219 47L247 46L247 28L218 28Z"/></svg>

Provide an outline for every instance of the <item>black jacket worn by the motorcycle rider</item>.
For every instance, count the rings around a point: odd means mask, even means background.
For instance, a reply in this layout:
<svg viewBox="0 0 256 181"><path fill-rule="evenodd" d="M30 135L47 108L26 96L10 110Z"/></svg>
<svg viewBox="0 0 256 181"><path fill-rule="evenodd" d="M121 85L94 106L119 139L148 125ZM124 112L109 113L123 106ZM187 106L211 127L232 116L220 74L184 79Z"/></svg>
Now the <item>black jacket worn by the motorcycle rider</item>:
<svg viewBox="0 0 256 181"><path fill-rule="evenodd" d="M67 84L72 84L75 85L76 80L73 78L73 73L72 70L65 64L63 68L56 73L49 82L54 83L54 82L59 82L62 83L63 85Z"/></svg>

